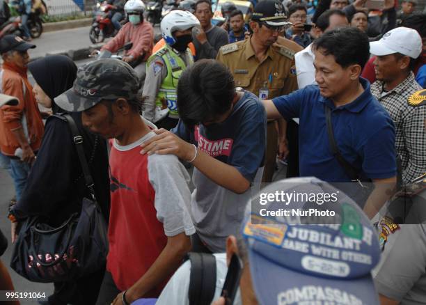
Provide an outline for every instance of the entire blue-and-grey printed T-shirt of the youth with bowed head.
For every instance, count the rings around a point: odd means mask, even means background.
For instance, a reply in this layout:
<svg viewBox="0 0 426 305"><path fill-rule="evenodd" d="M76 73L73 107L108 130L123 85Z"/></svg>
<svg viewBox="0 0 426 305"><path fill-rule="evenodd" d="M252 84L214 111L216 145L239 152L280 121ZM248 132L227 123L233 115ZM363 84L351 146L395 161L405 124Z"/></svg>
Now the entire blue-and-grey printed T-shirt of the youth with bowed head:
<svg viewBox="0 0 426 305"><path fill-rule="evenodd" d="M198 150L234 166L251 182L251 189L237 194L194 169L191 218L197 235L210 251L226 251L226 237L241 226L251 190L260 186L265 159L267 118L259 98L248 91L234 104L226 120L189 130L182 120L173 132Z"/></svg>

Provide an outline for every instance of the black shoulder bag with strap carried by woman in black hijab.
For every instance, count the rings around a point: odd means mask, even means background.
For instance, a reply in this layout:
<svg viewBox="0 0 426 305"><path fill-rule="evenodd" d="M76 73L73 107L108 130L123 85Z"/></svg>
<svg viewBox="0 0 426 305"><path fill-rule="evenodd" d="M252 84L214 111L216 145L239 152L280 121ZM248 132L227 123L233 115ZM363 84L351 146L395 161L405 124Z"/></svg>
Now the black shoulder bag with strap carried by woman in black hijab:
<svg viewBox="0 0 426 305"><path fill-rule="evenodd" d="M28 217L19 231L10 267L29 281L70 281L96 272L107 260L107 224L96 202L93 178L83 150L83 137L69 114L55 115L68 122L91 198L84 198L81 212L58 228ZM72 203L75 204L75 203Z"/></svg>

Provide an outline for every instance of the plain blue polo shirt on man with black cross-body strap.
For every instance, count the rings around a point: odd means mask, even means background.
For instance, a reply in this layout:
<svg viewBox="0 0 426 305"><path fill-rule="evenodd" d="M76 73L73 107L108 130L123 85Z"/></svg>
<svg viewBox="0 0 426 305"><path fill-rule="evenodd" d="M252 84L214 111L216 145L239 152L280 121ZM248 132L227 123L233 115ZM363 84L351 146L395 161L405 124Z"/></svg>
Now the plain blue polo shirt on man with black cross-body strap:
<svg viewBox="0 0 426 305"><path fill-rule="evenodd" d="M322 97L317 85L272 100L283 118L299 118L301 176L314 176L326 182L351 181L331 153L324 112L324 107L330 107L334 138L346 161L370 179L395 177L393 121L371 95L370 83L362 78L360 81L364 92L340 107Z"/></svg>

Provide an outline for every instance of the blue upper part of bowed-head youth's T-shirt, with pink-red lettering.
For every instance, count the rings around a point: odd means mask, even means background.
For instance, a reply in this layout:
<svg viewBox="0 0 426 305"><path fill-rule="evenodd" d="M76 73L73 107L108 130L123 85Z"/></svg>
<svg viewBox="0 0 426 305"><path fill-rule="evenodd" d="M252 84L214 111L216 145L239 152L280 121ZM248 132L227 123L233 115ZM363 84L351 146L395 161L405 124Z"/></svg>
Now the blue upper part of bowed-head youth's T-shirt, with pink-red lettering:
<svg viewBox="0 0 426 305"><path fill-rule="evenodd" d="M196 144L208 155L234 166L248 181L252 181L264 163L266 122L265 108L258 97L245 91L222 123L200 124L190 131L179 120L172 132Z"/></svg>

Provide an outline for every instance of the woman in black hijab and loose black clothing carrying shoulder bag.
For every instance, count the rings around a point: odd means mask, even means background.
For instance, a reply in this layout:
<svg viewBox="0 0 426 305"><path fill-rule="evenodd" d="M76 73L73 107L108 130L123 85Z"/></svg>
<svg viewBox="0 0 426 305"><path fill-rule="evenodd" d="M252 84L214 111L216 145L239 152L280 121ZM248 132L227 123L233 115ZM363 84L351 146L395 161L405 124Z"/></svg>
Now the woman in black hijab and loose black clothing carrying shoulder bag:
<svg viewBox="0 0 426 305"><path fill-rule="evenodd" d="M72 87L77 67L67 56L47 56L29 64L36 79L33 87L36 100L54 114L65 112L54 103L54 98ZM83 136L83 146L90 173L95 182L95 196L108 223L109 173L107 143L100 136L90 134L81 125L81 114L70 114ZM81 200L90 198L79 166L77 150L67 122L51 116L45 125L42 146L33 164L22 198L13 206L11 214L19 221L38 215L47 224L57 227L71 214L81 211ZM14 227L15 224L13 224ZM13 241L16 238L13 228ZM95 304L104 270L78 281L54 283L54 294L40 304Z"/></svg>

